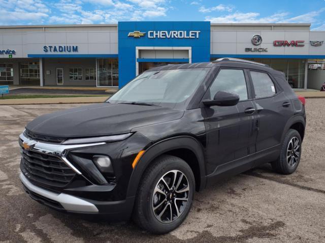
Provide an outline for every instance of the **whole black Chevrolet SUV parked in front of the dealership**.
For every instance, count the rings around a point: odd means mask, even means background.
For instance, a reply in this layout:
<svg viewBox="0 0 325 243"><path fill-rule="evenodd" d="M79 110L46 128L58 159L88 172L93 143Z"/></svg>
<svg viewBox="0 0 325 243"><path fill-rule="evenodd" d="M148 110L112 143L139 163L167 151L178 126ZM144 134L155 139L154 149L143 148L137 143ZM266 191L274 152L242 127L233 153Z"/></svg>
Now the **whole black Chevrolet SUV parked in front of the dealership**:
<svg viewBox="0 0 325 243"><path fill-rule="evenodd" d="M20 135L26 192L63 212L166 233L194 191L300 161L305 108L282 72L240 59L145 71L105 103L42 115Z"/></svg>

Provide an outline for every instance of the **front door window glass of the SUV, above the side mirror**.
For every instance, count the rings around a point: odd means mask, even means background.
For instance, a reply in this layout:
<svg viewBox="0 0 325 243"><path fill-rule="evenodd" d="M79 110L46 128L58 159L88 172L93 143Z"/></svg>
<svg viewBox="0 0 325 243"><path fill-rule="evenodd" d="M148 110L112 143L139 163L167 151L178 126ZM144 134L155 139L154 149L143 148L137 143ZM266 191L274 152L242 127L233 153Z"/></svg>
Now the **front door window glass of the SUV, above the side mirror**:
<svg viewBox="0 0 325 243"><path fill-rule="evenodd" d="M239 100L247 100L244 71L240 69L221 69L210 87L211 100L218 91L238 94Z"/></svg>

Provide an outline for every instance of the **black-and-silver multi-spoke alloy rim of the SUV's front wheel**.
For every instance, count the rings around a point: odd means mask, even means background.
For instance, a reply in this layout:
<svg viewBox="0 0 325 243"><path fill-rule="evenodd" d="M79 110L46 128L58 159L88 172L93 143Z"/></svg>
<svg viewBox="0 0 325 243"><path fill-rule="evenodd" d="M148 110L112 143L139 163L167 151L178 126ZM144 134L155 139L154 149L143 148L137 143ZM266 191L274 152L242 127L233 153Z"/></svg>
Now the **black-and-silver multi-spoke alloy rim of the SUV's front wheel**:
<svg viewBox="0 0 325 243"><path fill-rule="evenodd" d="M189 184L185 174L172 170L163 175L152 195L152 211L159 222L171 223L178 219L186 208Z"/></svg>

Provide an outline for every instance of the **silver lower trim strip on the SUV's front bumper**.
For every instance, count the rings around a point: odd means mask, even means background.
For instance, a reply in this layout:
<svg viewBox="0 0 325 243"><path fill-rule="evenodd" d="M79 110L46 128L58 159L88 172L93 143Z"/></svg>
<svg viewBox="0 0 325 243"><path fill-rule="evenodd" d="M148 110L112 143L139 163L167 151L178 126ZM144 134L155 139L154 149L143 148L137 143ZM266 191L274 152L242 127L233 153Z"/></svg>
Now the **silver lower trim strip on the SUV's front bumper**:
<svg viewBox="0 0 325 243"><path fill-rule="evenodd" d="M57 201L62 207L70 212L83 212L83 213L98 213L99 210L95 205L89 201L83 200L79 197L68 195L66 193L55 193L38 187L28 181L28 179L20 173L19 178L22 184L30 191L39 194L43 197Z"/></svg>

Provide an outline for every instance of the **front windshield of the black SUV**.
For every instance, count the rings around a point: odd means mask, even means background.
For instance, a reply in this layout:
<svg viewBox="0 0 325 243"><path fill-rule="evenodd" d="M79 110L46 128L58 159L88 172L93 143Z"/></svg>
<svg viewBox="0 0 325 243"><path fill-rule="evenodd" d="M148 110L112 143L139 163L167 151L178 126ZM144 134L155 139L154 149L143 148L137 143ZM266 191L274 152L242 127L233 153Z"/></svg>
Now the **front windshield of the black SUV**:
<svg viewBox="0 0 325 243"><path fill-rule="evenodd" d="M114 94L110 103L163 106L185 102L210 68L146 71Z"/></svg>

